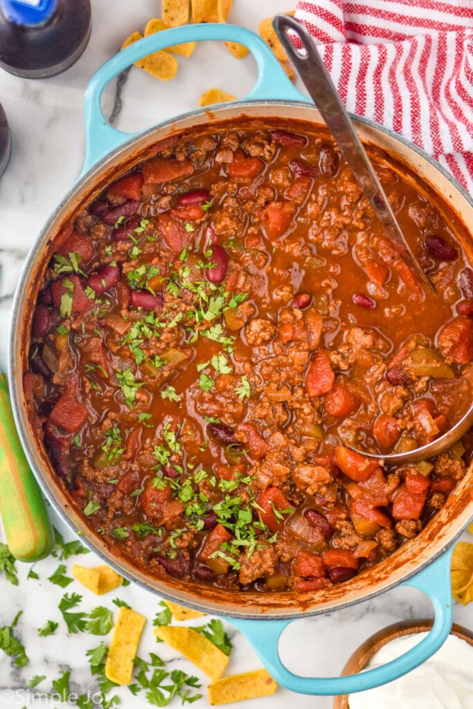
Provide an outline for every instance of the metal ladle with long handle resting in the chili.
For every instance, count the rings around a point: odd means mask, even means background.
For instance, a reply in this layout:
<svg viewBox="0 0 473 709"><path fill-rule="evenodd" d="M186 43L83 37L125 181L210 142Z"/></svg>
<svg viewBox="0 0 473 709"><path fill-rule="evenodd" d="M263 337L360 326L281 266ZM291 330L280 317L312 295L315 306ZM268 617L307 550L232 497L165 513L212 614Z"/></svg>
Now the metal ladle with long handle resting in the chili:
<svg viewBox="0 0 473 709"><path fill-rule="evenodd" d="M345 157L347 164L350 165L365 196L369 199L374 213L384 226L386 235L388 235L389 239L404 247L405 252L402 254L402 257L415 269L416 274L418 274L423 284L435 292L433 285L423 272L421 265L418 264L411 247L408 245L402 233L382 184L379 182L374 167L369 161L365 148L353 127L351 118L345 110L345 106L343 106L340 96L325 69L325 65L318 54L311 35L301 23L289 15L275 16L273 26L289 59L293 63L299 77L301 77L304 86L306 86L308 94L320 111L333 138L337 141L343 157ZM289 33L293 33L299 38L301 48L294 46ZM304 50L305 53L303 53ZM415 448L414 450L382 455L359 450L353 446L349 447L362 455L384 461L384 463L388 465L413 463L438 455L447 448L450 448L450 446L462 437L464 432L466 432L472 424L473 403L467 413L465 413L450 430L436 438L433 442Z"/></svg>

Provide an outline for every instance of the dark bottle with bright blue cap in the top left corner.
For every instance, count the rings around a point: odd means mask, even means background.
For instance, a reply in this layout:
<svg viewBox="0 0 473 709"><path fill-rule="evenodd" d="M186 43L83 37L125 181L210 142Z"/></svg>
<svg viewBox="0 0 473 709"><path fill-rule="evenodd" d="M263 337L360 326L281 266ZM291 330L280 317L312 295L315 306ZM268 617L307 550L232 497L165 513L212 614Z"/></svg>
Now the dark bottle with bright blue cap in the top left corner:
<svg viewBox="0 0 473 709"><path fill-rule="evenodd" d="M90 0L0 0L0 67L28 79L60 74L82 55L90 30Z"/></svg>

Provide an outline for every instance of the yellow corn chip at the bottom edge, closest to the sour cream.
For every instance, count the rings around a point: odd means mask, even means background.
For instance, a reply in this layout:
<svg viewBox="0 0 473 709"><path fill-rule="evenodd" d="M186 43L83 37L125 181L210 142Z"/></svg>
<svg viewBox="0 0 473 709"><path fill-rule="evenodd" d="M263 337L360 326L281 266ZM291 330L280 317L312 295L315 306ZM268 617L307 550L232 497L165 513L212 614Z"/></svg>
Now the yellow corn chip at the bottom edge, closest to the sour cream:
<svg viewBox="0 0 473 709"><path fill-rule="evenodd" d="M209 704L230 704L255 697L267 697L277 690L277 683L265 669L222 677L208 686Z"/></svg>

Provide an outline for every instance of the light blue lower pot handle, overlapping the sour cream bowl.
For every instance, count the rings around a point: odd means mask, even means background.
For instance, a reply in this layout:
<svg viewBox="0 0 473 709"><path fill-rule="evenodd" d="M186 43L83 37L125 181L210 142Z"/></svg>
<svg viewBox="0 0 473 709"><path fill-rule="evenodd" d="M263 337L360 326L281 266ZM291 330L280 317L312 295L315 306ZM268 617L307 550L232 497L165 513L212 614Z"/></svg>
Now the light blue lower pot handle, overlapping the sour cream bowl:
<svg viewBox="0 0 473 709"><path fill-rule="evenodd" d="M450 549L403 586L418 588L429 596L435 621L427 637L416 647L382 667L342 677L300 677L282 664L278 652L279 637L293 620L243 620L228 618L250 641L269 674L283 687L301 694L350 694L372 689L398 679L428 660L447 640L452 629L452 589L450 587Z"/></svg>

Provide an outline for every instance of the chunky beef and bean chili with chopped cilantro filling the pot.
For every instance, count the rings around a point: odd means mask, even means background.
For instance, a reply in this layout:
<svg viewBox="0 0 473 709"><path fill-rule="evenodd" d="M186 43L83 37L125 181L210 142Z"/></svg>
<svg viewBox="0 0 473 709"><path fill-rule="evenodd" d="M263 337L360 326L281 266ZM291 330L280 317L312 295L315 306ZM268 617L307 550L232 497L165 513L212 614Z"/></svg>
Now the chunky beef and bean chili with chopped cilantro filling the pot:
<svg viewBox="0 0 473 709"><path fill-rule="evenodd" d="M325 133L240 122L116 174L57 235L25 394L72 501L151 576L318 592L415 537L468 437L473 271L440 197L372 156L436 293ZM415 185L415 186L414 186Z"/></svg>

